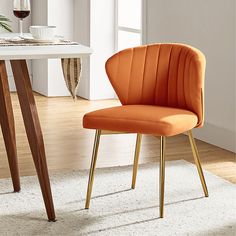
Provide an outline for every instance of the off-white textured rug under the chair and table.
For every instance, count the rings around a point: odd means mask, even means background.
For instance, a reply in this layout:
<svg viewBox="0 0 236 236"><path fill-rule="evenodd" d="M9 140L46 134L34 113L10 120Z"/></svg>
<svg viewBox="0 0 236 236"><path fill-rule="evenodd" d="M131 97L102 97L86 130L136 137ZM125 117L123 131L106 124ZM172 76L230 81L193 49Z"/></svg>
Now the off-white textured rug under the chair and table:
<svg viewBox="0 0 236 236"><path fill-rule="evenodd" d="M166 163L165 218L159 219L158 163L140 165L135 190L132 167L98 169L90 210L84 210L88 171L51 177L57 222L46 221L36 177L23 177L10 193L0 180L0 235L236 235L236 187L205 172L203 197L194 165Z"/></svg>

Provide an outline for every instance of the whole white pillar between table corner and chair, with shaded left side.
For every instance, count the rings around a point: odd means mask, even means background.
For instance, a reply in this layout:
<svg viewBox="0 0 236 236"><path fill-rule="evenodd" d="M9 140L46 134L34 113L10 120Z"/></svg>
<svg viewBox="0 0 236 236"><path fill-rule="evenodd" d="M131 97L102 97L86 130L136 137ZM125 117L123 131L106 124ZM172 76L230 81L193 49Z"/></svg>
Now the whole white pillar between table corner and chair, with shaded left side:
<svg viewBox="0 0 236 236"><path fill-rule="evenodd" d="M115 1L74 1L75 40L93 49L90 59L83 60L79 95L90 100L114 98L105 62L115 50Z"/></svg>

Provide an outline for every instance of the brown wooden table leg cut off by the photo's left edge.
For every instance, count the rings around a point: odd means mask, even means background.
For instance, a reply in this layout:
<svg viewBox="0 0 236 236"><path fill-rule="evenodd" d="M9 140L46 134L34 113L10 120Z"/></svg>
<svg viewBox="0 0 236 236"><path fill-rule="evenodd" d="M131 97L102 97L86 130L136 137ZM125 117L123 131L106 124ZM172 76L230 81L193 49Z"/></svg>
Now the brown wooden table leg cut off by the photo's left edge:
<svg viewBox="0 0 236 236"><path fill-rule="evenodd" d="M20 191L15 124L5 61L0 60L0 124L6 146L14 192Z"/></svg>

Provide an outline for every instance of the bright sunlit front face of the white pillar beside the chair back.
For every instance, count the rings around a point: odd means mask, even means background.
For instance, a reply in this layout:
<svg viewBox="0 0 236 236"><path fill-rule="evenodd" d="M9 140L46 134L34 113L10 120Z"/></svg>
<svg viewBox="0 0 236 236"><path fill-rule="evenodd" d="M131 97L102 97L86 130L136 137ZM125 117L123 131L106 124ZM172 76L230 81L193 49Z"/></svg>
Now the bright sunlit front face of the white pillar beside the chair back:
<svg viewBox="0 0 236 236"><path fill-rule="evenodd" d="M90 58L90 99L114 98L105 72L106 60L115 51L114 0L91 0L90 44L94 52Z"/></svg>

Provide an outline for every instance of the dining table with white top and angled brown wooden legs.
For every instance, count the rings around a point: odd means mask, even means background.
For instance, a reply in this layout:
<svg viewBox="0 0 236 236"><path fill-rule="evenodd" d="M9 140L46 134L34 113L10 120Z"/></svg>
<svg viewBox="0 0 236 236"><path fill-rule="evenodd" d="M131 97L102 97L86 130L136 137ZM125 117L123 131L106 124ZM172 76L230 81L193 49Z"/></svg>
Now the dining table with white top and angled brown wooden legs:
<svg viewBox="0 0 236 236"><path fill-rule="evenodd" d="M11 64L24 126L49 221L55 221L56 215L47 168L43 133L26 61L51 58L80 58L82 60L84 57L88 57L91 53L91 48L78 43L42 43L35 45L32 43L25 43L23 45L19 43L9 45L0 44L0 125L6 147L14 192L19 192L21 187L17 158L15 123L6 70L6 61L10 61Z"/></svg>

